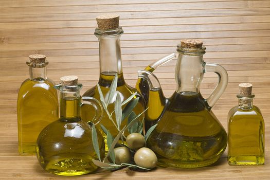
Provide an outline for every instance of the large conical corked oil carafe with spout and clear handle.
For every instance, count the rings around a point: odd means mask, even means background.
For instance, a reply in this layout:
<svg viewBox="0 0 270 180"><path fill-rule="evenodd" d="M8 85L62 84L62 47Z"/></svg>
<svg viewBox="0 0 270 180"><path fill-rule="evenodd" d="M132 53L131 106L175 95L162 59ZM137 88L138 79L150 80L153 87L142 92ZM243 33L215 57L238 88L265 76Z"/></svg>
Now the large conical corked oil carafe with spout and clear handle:
<svg viewBox="0 0 270 180"><path fill-rule="evenodd" d="M222 66L203 61L206 48L202 44L199 40L183 40L177 45L177 88L168 99L154 74L139 71L139 77L147 80L150 87L146 122L157 122L147 139L147 147L156 153L160 166L208 166L215 163L226 149L226 131L211 107L224 92L228 75ZM219 83L208 99L200 93L200 83L206 72L219 76Z"/></svg>

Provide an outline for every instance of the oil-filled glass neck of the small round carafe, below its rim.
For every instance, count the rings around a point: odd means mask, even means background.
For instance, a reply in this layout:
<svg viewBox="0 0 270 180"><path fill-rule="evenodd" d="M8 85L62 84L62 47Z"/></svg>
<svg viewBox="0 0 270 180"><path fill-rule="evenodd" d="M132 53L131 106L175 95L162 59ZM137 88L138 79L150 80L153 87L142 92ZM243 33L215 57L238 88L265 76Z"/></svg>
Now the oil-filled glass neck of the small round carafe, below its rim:
<svg viewBox="0 0 270 180"><path fill-rule="evenodd" d="M80 117L81 97L80 91L60 91L60 120L78 121Z"/></svg>

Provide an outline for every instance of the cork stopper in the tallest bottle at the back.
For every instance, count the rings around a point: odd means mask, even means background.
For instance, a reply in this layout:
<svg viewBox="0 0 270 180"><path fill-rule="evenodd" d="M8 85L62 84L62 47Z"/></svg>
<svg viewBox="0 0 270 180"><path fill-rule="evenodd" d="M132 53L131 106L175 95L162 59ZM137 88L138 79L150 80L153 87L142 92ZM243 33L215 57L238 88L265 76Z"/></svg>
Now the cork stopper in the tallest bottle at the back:
<svg viewBox="0 0 270 180"><path fill-rule="evenodd" d="M118 14L103 14L96 17L100 30L117 29L119 27Z"/></svg>

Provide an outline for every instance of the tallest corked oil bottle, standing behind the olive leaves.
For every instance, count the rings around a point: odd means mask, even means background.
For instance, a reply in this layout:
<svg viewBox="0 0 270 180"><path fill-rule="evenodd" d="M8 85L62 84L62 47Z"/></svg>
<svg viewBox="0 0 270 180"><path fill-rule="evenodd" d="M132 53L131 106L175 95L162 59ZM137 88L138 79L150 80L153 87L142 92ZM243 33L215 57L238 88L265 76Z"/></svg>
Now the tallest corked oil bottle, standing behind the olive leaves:
<svg viewBox="0 0 270 180"><path fill-rule="evenodd" d="M96 17L98 28L95 30L95 35L99 40L99 58L100 58L100 77L98 84L101 88L103 96L109 92L113 78L118 75L116 93L119 93L121 101L123 102L129 98L132 94L137 92L134 98L139 97L139 102L133 109L133 111L138 115L145 110L145 102L141 97L140 93L133 87L129 86L124 81L122 73L122 60L121 60L121 49L120 49L120 37L123 34L122 27L119 26L119 15L101 15ZM100 100L97 85L91 89L88 89L83 96L90 96ZM115 94L116 97L116 94ZM113 98L115 101L115 98ZM125 105L123 105L124 107ZM111 102L107 107L111 113L114 110L114 104ZM93 112L93 109L87 105L82 106L82 119L89 119L89 114L86 113ZM90 113L93 114L93 113ZM113 119L115 119L115 114L113 113ZM142 120L143 115L140 116L139 120ZM127 125L128 118L125 118L120 129ZM116 136L119 130L115 127L113 122L109 117L104 114L101 124L105 126L106 129L110 130L112 136ZM101 132L104 136L106 142L105 133ZM127 132L126 132L127 133ZM125 134L127 135L127 134ZM107 150L107 147L106 147Z"/></svg>

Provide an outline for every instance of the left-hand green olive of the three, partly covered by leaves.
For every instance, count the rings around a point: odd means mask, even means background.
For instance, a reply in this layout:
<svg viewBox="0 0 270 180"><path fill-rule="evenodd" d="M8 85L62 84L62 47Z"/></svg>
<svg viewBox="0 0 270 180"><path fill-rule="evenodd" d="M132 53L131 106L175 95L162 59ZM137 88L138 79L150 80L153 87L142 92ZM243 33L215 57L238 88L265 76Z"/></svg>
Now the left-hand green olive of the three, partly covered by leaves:
<svg viewBox="0 0 270 180"><path fill-rule="evenodd" d="M114 149L115 163L120 165L121 163L129 163L131 160L130 149L126 147L118 147Z"/></svg>

